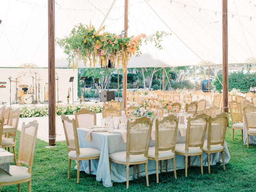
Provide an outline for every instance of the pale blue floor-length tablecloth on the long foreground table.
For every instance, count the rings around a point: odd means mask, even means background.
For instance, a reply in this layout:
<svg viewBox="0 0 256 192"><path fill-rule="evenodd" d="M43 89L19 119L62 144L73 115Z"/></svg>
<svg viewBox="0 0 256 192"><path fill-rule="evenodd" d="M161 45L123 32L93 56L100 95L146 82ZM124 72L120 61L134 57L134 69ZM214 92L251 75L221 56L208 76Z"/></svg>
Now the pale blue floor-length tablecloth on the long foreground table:
<svg viewBox="0 0 256 192"><path fill-rule="evenodd" d="M122 142L122 136L120 133L109 133L109 132L92 132L91 142L87 142L85 137L90 130L87 128L78 128L78 141L79 146L82 147L93 147L101 151L100 158L91 160L91 173L96 175L96 180L102 181L105 187L111 187L113 182L125 182L126 181L126 169L125 165L116 164L111 162L111 173L109 164L109 154L119 151L126 150L126 144ZM178 131L177 143L185 143L185 137L182 137ZM155 146L155 141L150 141L150 146ZM230 160L230 154L228 151L227 144L224 145L225 164ZM210 165L216 165L219 162L222 164L221 153L211 154ZM185 168L184 156L175 156L176 169ZM203 164L207 166L207 154L203 154ZM200 166L200 157L191 157L192 166ZM159 166L160 167L160 166ZM165 170L165 163L163 163L163 170ZM80 171L89 173L88 161L80 161ZM159 169L160 171L160 169ZM168 171L173 171L172 160L168 161ZM198 169L198 173L200 170ZM129 170L129 180L133 180L134 168ZM148 160L148 174L156 173L156 162ZM145 176L145 167L140 165L140 175ZM173 176L174 177L174 176Z"/></svg>

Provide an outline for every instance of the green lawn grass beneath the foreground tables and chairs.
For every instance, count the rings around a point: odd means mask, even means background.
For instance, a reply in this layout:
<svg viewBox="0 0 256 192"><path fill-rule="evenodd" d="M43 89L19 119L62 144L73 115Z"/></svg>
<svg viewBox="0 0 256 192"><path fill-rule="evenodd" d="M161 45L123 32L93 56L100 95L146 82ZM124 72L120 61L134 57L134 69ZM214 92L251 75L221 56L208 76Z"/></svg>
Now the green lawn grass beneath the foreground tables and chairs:
<svg viewBox="0 0 256 192"><path fill-rule="evenodd" d="M18 138L20 132L18 132ZM211 166L208 174L204 167L201 175L200 167L188 168L188 177L185 171L177 170L177 179L173 172L159 174L159 183L156 183L156 175L149 175L149 188L146 187L146 178L141 177L126 183L113 183L113 187L106 188L102 182L96 180L96 176L80 172L80 183L76 184L76 165L72 161L71 179L68 175L68 154L66 142L57 142L57 147L47 149L48 143L37 139L34 164L32 169L33 192L255 192L256 191L256 145L250 145L249 149L241 140L241 131L235 131L235 139L232 141L232 130L228 128L226 142L231 155L230 162L223 166ZM19 139L16 144L18 151ZM3 186L1 192L16 192L17 185ZM27 192L27 183L22 184L22 192Z"/></svg>

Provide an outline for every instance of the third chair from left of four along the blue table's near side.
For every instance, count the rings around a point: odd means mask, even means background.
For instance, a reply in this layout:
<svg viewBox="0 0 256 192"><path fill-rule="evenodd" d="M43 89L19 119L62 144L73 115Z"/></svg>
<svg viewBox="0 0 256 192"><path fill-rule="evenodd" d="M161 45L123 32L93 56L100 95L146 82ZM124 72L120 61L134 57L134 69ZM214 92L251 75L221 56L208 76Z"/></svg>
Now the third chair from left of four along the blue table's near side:
<svg viewBox="0 0 256 192"><path fill-rule="evenodd" d="M187 167L190 166L189 156L200 156L201 174L203 174L203 144L207 124L208 116L206 114L196 115L195 118L188 117L186 143L175 146L175 154L185 156L185 177L187 177Z"/></svg>

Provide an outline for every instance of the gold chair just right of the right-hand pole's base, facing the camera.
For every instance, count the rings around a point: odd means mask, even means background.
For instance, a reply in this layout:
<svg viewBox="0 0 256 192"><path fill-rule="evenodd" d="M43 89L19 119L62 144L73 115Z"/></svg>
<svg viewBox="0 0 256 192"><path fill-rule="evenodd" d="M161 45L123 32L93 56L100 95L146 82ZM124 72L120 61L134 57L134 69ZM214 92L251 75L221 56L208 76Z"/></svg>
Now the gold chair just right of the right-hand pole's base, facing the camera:
<svg viewBox="0 0 256 192"><path fill-rule="evenodd" d="M242 104L237 101L229 102L230 116L232 120L232 141L234 140L234 130L241 130L242 132L242 140L243 140L243 112L242 112Z"/></svg>

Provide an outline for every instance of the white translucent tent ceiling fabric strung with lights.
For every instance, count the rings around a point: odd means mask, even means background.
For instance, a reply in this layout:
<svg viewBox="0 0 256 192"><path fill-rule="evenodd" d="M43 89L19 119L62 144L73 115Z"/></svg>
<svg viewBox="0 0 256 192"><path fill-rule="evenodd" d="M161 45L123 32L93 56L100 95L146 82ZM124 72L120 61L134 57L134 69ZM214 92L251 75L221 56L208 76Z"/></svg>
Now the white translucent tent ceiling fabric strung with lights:
<svg viewBox="0 0 256 192"><path fill-rule="evenodd" d="M91 22L98 29L113 2L55 1L55 36L59 38L69 36L73 26L79 23ZM249 0L230 0L228 3L229 63L244 63L256 53L256 8ZM186 45L172 33L163 39L162 50L153 44L143 45L142 55L139 58L133 56L128 67L198 65L202 60L221 64L221 9L221 0L129 0L128 36L140 33L149 36L156 31L171 33L172 30ZM48 66L47 14L47 1L0 1L0 67L17 67L23 63ZM124 0L116 0L104 23L105 30L121 34L123 15ZM56 67L67 67L65 57L56 45ZM77 62L76 67L84 65Z"/></svg>

